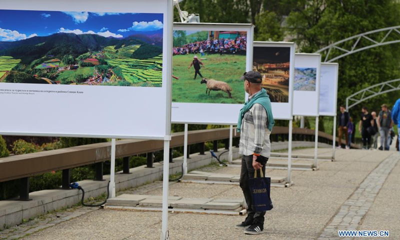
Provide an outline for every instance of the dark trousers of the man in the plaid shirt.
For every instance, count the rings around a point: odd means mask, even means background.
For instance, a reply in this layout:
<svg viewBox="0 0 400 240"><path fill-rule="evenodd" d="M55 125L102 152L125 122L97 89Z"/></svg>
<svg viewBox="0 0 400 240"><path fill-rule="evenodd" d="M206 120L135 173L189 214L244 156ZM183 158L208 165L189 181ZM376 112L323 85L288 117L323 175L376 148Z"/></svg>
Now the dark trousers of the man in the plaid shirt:
<svg viewBox="0 0 400 240"><path fill-rule="evenodd" d="M258 156L258 160L262 164L262 172L265 175L265 163L268 160L268 158L264 156ZM254 211L252 208L251 190L247 181L249 178L254 178L255 170L253 168L252 162L253 162L253 155L249 156L243 155L241 157L241 171L240 171L239 183L241 190L243 191L244 199L246 200L247 203L247 218L250 220L253 219L254 222L258 224L264 224L265 211ZM257 175L259 175L259 171Z"/></svg>

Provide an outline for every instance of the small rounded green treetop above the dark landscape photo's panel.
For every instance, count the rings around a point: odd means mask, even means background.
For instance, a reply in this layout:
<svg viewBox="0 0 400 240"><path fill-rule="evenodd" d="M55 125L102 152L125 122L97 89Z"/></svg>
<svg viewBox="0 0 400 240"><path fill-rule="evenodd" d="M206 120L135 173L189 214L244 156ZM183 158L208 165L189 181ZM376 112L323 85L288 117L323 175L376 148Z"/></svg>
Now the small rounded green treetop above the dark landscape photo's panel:
<svg viewBox="0 0 400 240"><path fill-rule="evenodd" d="M264 11L255 18L256 33L254 40L256 41L280 41L283 39L283 31L280 22L274 12Z"/></svg>

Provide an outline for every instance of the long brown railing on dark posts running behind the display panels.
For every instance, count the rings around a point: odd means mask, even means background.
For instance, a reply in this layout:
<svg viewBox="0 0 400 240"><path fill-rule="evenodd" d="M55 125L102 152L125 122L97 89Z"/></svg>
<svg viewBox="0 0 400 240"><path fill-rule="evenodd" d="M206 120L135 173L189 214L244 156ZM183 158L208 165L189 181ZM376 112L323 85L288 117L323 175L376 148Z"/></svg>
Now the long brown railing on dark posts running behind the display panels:
<svg viewBox="0 0 400 240"><path fill-rule="evenodd" d="M235 128L233 130L235 131ZM233 137L239 136L240 133L237 132ZM170 147L183 146L183 137L183 132L172 133ZM199 144L200 154L204 154L204 142L213 141L213 149L215 150L217 149L218 140L228 138L229 128L189 131L188 145ZM275 126L270 139L272 142L287 140L288 127ZM293 128L293 140L314 141L314 139L314 130ZM321 131L318 132L318 141L332 144L332 139L332 135ZM129 156L147 153L147 166L151 167L153 163L152 153L159 150L163 150L163 141L122 139L116 141L115 157L123 157L123 173L129 173ZM71 168L95 163L95 180L102 180L103 162L109 160L110 157L111 142L3 157L0 158L0 182L20 179L19 200L28 200L29 176L62 170L62 188L68 189ZM172 154L170 153L171 159Z"/></svg>

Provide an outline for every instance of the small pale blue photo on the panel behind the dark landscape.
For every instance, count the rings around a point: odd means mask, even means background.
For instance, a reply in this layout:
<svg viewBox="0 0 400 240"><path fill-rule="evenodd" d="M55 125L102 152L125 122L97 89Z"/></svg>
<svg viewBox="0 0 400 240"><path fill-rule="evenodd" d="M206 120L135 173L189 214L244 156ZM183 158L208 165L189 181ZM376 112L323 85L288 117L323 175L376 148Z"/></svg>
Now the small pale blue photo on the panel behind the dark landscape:
<svg viewBox="0 0 400 240"><path fill-rule="evenodd" d="M294 67L293 90L315 91L316 68Z"/></svg>

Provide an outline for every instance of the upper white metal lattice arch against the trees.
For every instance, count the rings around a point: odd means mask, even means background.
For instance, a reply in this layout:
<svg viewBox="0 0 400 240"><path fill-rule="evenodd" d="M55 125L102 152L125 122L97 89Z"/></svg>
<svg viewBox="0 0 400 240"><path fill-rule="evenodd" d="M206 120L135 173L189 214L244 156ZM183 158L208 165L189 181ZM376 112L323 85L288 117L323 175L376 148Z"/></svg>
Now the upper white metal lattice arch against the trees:
<svg viewBox="0 0 400 240"><path fill-rule="evenodd" d="M384 35L384 37L382 39L380 39L380 41L373 40L371 37L369 37L369 36L371 36L371 34L377 33L377 32L386 32L386 34ZM391 36L396 36L396 37L398 37L398 39L385 41L386 38L392 32L394 32L395 34L392 34ZM356 47L357 47L359 41L361 40L361 38L364 38L364 39L368 40L371 44L356 49ZM353 39L356 39L356 40L355 40L355 43L351 46L351 49L344 49L344 48L338 46L339 44L341 44L343 42L350 41L350 40L353 40ZM335 60L337 60L337 59L339 59L339 58L341 58L343 56L347 56L347 55L350 55L350 54L358 52L358 51L362 51L362 50L369 49L369 48L376 47L376 46L382 46L382 45L387 45L387 44L392 44L392 43L398 43L398 42L400 42L400 26L390 26L390 27L380 28L380 29L376 29L376 30L373 30L373 31L367 31L367 32L364 32L364 33L361 33L361 34L358 34L358 35L347 37L347 38L342 39L340 41L336 41L336 42L334 42L334 43L332 43L332 44L330 44L328 46L325 46L325 47L317 50L315 53L326 52L324 62L332 62L332 61L335 61ZM333 48L339 50L342 53L340 55L338 55L338 56L335 56L335 57L329 59L330 51Z"/></svg>

